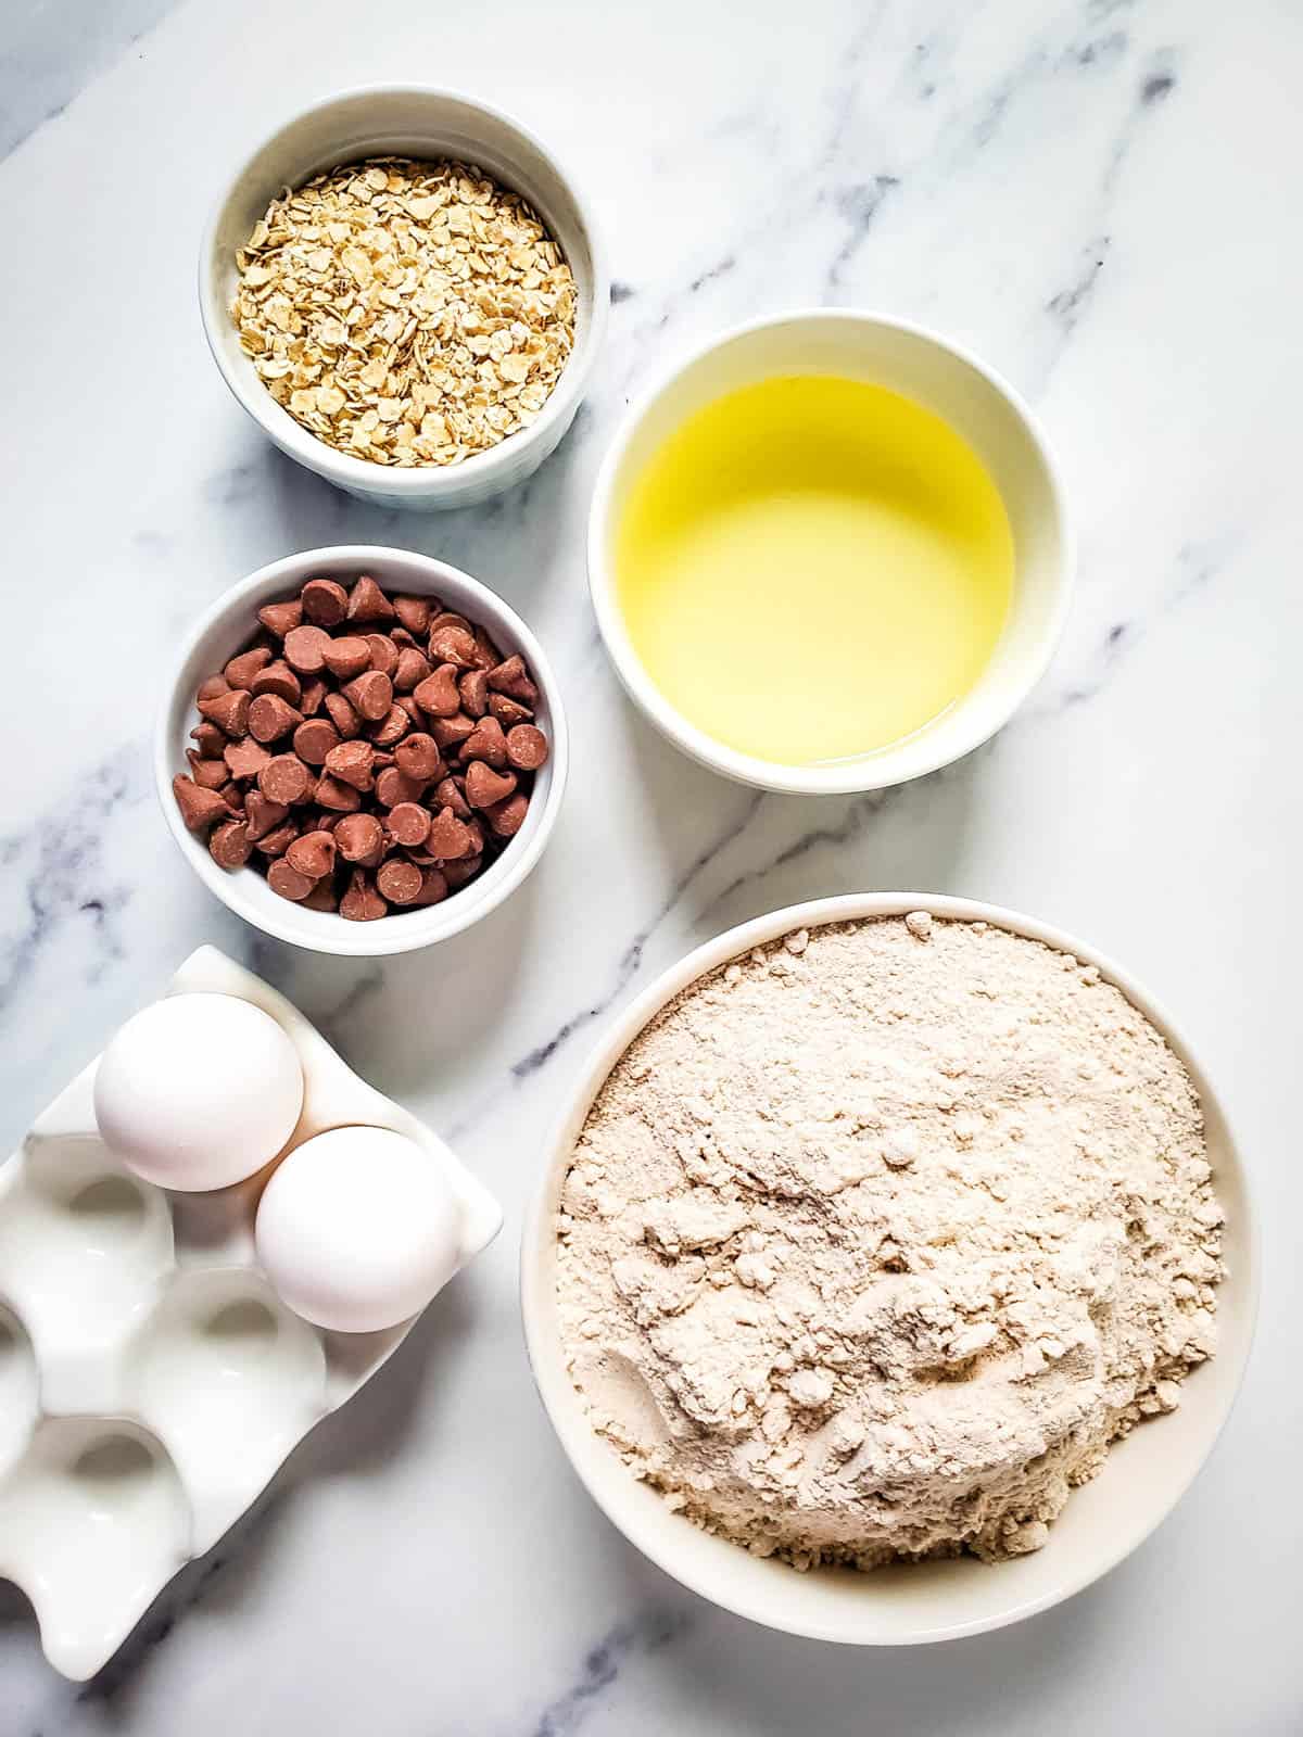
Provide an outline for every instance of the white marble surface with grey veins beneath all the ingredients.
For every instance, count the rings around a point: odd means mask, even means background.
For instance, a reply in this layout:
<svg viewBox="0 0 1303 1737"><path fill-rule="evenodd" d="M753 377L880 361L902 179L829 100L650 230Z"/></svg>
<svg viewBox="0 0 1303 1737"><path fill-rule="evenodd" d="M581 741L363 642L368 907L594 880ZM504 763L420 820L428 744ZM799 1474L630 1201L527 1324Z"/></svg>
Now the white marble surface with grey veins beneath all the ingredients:
<svg viewBox="0 0 1303 1737"><path fill-rule="evenodd" d="M10 7L0 33L0 1133L214 940L507 1205L490 1254L96 1683L56 1678L0 1588L3 1737L1298 1732L1300 9L63 0ZM547 134L618 281L561 453L448 519L361 507L269 450L195 309L233 155L387 76L476 89ZM620 698L584 592L587 493L629 391L796 302L909 314L1006 370L1081 535L1079 604L1030 705L872 799L759 797L679 759ZM158 658L195 611L349 538L502 589L575 731L532 884L384 969L228 917L167 839L144 754ZM1141 1551L1022 1628L855 1655L702 1605L612 1532L530 1388L514 1244L610 1009L735 921L893 886L1075 929L1176 1009L1258 1179L1267 1289L1232 1424Z"/></svg>

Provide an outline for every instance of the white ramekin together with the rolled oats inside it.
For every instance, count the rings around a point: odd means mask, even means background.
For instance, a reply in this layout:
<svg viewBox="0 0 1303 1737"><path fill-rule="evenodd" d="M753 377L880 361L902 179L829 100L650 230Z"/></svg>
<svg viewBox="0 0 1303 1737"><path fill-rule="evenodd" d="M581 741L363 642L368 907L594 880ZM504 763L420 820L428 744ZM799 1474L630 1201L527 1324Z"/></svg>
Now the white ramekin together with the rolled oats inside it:
<svg viewBox="0 0 1303 1737"><path fill-rule="evenodd" d="M200 309L269 439L353 495L464 507L575 419L610 302L572 179L473 97L377 87L274 132L217 203Z"/></svg>

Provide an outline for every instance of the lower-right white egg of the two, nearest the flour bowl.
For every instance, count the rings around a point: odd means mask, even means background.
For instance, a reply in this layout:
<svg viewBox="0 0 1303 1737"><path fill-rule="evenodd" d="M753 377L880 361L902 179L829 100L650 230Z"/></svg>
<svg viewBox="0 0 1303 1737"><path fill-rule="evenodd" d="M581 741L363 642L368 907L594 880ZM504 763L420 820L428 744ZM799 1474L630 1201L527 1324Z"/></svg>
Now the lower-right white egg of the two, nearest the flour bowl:
<svg viewBox="0 0 1303 1737"><path fill-rule="evenodd" d="M457 1271L460 1212L420 1146L384 1127L334 1127L262 1192L257 1258L285 1303L337 1332L375 1332L424 1308Z"/></svg>

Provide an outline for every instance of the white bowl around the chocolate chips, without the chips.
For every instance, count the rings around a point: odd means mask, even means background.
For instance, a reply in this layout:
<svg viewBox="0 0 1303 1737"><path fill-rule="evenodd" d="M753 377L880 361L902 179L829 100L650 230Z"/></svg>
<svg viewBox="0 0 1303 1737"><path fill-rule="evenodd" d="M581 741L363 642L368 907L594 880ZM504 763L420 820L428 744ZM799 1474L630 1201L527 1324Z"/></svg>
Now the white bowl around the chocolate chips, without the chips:
<svg viewBox="0 0 1303 1737"><path fill-rule="evenodd" d="M450 893L438 905L419 910L391 912L374 922L349 922L330 910L304 910L273 893L255 868L219 868L208 855L203 839L186 830L172 796L172 778L186 771L186 749L193 747L189 731L198 723L195 690L205 676L212 676L241 651L257 632L257 611L264 603L294 596L306 580L337 578L342 584L370 573L386 592L412 592L422 598L440 598L443 604L483 625L490 637L509 657L519 651L539 686L537 719L547 736L551 752L535 773L530 811L525 825L507 842L502 855L469 886ZM167 700L155 728L155 780L163 815L181 855L203 881L245 922L274 935L294 947L309 947L318 954L337 954L346 959L379 959L387 954L408 954L434 941L446 941L473 922L486 917L504 898L516 891L542 856L565 794L570 745L561 695L556 676L542 646L516 611L495 596L478 578L407 549L380 549L370 544L341 544L334 549L306 549L261 566L257 573L231 585L203 615L177 653L177 662L167 690Z"/></svg>

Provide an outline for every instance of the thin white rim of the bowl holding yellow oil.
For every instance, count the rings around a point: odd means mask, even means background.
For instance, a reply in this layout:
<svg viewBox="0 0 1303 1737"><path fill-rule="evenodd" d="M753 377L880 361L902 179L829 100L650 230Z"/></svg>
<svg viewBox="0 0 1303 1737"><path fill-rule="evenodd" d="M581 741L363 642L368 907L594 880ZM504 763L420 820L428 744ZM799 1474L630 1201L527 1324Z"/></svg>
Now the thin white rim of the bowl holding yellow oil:
<svg viewBox="0 0 1303 1737"><path fill-rule="evenodd" d="M1023 658L1023 672L1020 679L1011 684L1013 697L1008 707L1002 707L997 712L994 723L971 730L957 749L943 749L940 752L924 754L919 764L910 771L896 769L896 763L900 750L916 745L921 733L907 736L903 742L888 743L874 754L822 766L784 766L775 761L759 759L754 754L742 754L738 749L716 742L714 736L690 723L678 710L678 707L671 705L648 676L624 624L624 615L615 594L615 573L612 570L612 563L606 559L615 479L638 429L655 405L674 386L678 386L685 375L691 373L693 368L716 351L726 349L740 339L752 337L756 332L804 323L827 327L872 327L877 330L902 334L940 351L950 363L971 368L973 373L976 373L999 398L1004 400L1022 424L1032 452L1044 471L1049 492L1055 537L1058 544L1058 558L1055 563L1055 603L1034 653ZM705 342L693 344L690 349L683 351L678 360L660 370L653 377L652 384L625 410L606 446L606 453L592 488L587 523L587 571L589 596L592 598L592 610L598 617L598 629L625 693L678 749L698 764L723 773L726 778L733 778L738 783L756 785L763 790L780 790L801 796L846 796L863 790L881 790L890 785L907 783L914 778L924 778L933 771L940 771L942 766L950 766L954 761L971 754L973 749L980 747L983 742L990 740L997 730L1004 728L1009 717L1027 700L1029 693L1048 670L1051 658L1058 650L1058 643L1063 637L1075 582L1075 537L1067 509L1067 493L1060 466L1044 429L1032 413L1030 405L1011 386L1011 382L1004 379L1002 373L990 367L990 363L982 361L982 358L973 351L966 349L954 339L945 337L942 332L914 320L900 320L893 314L877 313L870 307L792 307L785 313L761 314L756 320L747 320L742 325L730 327L726 332L716 334ZM924 726L924 731L926 728L928 726Z"/></svg>

